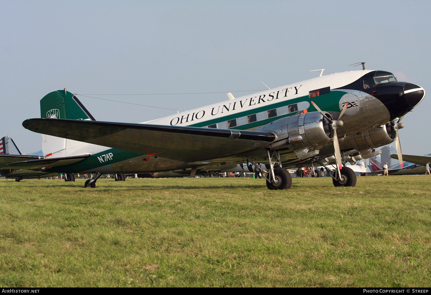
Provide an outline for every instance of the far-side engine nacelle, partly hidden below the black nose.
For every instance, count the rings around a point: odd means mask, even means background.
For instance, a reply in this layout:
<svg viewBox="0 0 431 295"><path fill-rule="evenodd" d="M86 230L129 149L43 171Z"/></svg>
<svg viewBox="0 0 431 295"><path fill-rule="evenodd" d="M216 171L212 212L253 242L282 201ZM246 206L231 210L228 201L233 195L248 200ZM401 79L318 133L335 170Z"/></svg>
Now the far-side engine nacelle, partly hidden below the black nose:
<svg viewBox="0 0 431 295"><path fill-rule="evenodd" d="M342 150L353 148L360 151L369 148L378 148L390 144L394 140L394 127L388 123L369 131L342 138L342 141L340 140L340 148Z"/></svg>

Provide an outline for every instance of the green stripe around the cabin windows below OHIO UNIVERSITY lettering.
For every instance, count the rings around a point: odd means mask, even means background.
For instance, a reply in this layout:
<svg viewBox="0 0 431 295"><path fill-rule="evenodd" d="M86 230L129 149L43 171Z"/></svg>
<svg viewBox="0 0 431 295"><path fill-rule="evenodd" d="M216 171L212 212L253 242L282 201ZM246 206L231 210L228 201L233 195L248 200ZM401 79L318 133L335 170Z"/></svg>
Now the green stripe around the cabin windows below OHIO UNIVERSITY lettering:
<svg viewBox="0 0 431 295"><path fill-rule="evenodd" d="M309 98L308 96L301 96L301 97L297 97L297 98L293 98L293 99L289 99L289 100L284 100L284 101L281 101L279 103L269 104L269 105L266 105L264 107L258 107L258 108L253 109L253 110L246 110L244 112L234 113L234 114L220 117L217 119L211 119L208 121L199 122L199 123L189 125L189 126L192 126L192 127L209 126L209 125L213 125L215 123L220 123L220 122L224 122L224 121L228 121L228 120L232 120L232 119L237 119L237 118L248 116L248 115L253 115L253 114L260 113L260 112L263 112L266 110L273 110L273 109L278 108L278 107L284 107L284 106L288 106L291 104L297 104L297 103L303 102L303 101L309 102L309 104L310 104L310 106L308 108L309 112L317 111L316 108L313 107L313 105L311 104L311 100L313 100L322 110L339 112L340 111L340 107L339 107L340 99L346 93L347 92L344 92L344 91L331 91L331 93L323 94L323 95L313 97L313 98ZM301 111L301 110L298 110L298 111ZM265 120L261 120L261 121L241 125L241 126L232 127L231 129L247 130L247 129L266 125L268 123L271 123L275 120L278 120L278 119L281 119L284 117L292 116L295 113L297 113L297 112L288 113L286 115L276 116L276 117L272 117L269 119L265 119Z"/></svg>

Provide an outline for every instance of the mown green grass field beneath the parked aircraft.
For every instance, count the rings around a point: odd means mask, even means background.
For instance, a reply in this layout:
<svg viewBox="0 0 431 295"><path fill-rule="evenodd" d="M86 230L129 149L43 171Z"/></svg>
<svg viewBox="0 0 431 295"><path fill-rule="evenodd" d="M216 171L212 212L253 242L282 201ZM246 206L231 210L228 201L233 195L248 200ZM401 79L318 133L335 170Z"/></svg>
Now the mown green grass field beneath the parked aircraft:
<svg viewBox="0 0 431 295"><path fill-rule="evenodd" d="M430 286L431 177L0 180L0 286Z"/></svg>

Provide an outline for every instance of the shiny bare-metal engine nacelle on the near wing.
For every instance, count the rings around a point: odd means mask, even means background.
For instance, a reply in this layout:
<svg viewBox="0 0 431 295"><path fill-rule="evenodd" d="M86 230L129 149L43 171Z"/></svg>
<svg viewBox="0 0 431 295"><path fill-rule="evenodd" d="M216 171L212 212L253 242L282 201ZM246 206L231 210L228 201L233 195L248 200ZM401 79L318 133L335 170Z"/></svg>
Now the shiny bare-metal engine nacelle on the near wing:
<svg viewBox="0 0 431 295"><path fill-rule="evenodd" d="M279 148L292 144L293 149L315 148L331 141L331 126L328 118L319 112L300 113L278 119L258 131L269 131L277 135L278 141L271 145Z"/></svg>

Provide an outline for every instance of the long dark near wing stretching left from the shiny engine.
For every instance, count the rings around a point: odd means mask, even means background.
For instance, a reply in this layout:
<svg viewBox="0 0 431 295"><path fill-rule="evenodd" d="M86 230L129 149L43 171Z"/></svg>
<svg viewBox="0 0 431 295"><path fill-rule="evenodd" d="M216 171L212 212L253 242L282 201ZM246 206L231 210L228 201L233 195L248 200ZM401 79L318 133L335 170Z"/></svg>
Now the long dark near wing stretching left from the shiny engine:
<svg viewBox="0 0 431 295"><path fill-rule="evenodd" d="M183 162L244 154L276 138L271 132L68 119L28 119L22 126L42 134Z"/></svg>

